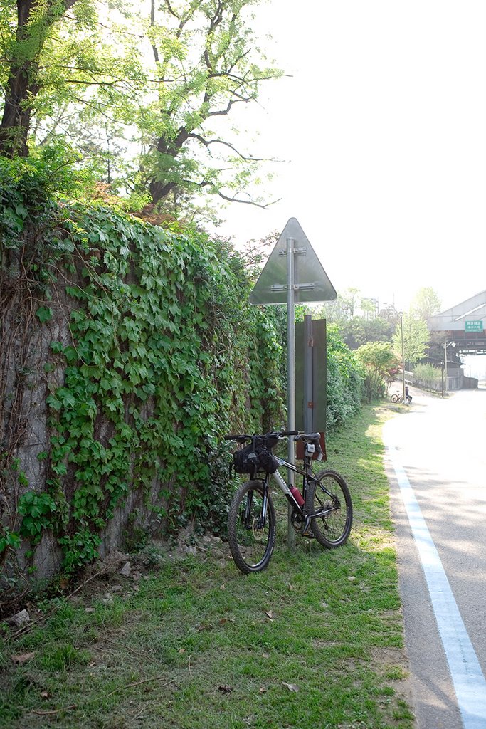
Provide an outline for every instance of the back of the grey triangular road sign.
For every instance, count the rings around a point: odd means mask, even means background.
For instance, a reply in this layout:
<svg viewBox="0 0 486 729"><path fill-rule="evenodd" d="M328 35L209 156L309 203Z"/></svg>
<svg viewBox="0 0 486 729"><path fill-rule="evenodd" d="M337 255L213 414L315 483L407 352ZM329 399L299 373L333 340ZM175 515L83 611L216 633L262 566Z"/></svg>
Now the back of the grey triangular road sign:
<svg viewBox="0 0 486 729"><path fill-rule="evenodd" d="M287 302L287 239L294 239L294 300L330 301L337 294L297 218L289 219L250 294L251 304Z"/></svg>

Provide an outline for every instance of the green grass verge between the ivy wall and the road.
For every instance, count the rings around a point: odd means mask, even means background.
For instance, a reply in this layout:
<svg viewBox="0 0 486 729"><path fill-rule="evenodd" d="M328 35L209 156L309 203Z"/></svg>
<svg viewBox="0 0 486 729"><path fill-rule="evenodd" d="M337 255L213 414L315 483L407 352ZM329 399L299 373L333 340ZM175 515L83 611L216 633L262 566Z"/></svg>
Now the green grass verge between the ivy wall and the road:
<svg viewBox="0 0 486 729"><path fill-rule="evenodd" d="M353 496L344 547L297 537L289 554L283 534L243 576L219 550L152 546L130 577L41 604L28 632L4 631L0 727L411 729L384 412L328 443Z"/></svg>

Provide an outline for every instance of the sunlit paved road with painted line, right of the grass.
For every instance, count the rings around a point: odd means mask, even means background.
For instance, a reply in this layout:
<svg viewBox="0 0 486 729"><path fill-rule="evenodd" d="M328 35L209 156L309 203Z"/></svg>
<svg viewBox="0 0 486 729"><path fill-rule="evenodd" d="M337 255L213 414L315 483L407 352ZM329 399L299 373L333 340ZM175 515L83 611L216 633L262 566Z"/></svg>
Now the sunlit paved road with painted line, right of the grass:
<svg viewBox="0 0 486 729"><path fill-rule="evenodd" d="M486 390L410 393L384 435L417 726L486 729Z"/></svg>

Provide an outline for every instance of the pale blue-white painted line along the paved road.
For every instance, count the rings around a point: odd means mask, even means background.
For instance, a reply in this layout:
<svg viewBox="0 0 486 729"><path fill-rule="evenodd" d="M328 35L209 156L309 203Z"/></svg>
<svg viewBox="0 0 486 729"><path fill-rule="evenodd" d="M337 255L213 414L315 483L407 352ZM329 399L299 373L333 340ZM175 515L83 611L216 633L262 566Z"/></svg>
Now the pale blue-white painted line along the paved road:
<svg viewBox="0 0 486 729"><path fill-rule="evenodd" d="M449 663L452 683L463 720L464 729L486 727L486 681L472 646L466 625L460 616L449 580L444 572L439 553L432 541L420 506L407 474L399 462L396 448L387 448L399 482L412 534L417 545L428 592Z"/></svg>

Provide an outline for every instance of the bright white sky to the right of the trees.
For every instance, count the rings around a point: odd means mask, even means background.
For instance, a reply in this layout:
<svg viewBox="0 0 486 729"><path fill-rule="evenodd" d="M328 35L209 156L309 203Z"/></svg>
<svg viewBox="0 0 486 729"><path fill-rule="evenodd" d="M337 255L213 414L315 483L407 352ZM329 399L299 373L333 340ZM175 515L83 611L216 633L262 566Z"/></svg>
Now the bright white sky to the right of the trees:
<svg viewBox="0 0 486 729"><path fill-rule="evenodd" d="M236 243L296 217L337 292L443 308L486 289L484 0L271 0L256 10L292 77L246 110L275 165L270 210L233 205Z"/></svg>

